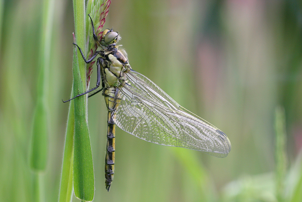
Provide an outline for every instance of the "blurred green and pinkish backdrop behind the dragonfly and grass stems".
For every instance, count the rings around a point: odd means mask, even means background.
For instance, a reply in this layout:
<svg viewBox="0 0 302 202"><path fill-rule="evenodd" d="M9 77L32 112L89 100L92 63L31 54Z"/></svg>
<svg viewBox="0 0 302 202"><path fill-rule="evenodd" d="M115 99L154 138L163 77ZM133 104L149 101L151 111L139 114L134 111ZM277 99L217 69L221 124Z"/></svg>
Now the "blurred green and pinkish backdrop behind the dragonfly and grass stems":
<svg viewBox="0 0 302 202"><path fill-rule="evenodd" d="M45 201L58 200L69 106L61 99L72 88L72 1L54 3ZM95 95L88 103L94 201L302 201L301 1L112 0L109 9L104 28L120 32L131 67L220 128L232 149L217 158L117 129L107 192L107 109ZM0 201L33 197L29 159L41 18L39 0L0 0ZM92 87L95 74L91 81ZM286 120L279 150L277 106ZM282 155L286 160L278 163ZM278 166L286 168L283 174Z"/></svg>

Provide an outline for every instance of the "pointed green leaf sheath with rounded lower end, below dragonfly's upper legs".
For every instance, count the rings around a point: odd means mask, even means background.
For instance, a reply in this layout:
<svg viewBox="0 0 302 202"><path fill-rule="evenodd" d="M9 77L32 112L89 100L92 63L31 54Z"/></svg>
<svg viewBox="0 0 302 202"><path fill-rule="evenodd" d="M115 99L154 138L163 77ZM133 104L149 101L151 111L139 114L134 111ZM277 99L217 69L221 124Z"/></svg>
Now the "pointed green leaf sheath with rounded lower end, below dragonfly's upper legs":
<svg viewBox="0 0 302 202"><path fill-rule="evenodd" d="M84 92L83 83L86 87L86 74L84 81L80 77L78 57L76 47L74 48L73 60L73 95ZM75 84L76 83L76 84ZM75 90L76 89L76 90ZM80 96L74 100L75 113L75 135L74 135L74 164L73 164L73 184L76 197L84 201L92 201L94 196L94 173L92 163L92 153L87 125L86 102L87 96Z"/></svg>

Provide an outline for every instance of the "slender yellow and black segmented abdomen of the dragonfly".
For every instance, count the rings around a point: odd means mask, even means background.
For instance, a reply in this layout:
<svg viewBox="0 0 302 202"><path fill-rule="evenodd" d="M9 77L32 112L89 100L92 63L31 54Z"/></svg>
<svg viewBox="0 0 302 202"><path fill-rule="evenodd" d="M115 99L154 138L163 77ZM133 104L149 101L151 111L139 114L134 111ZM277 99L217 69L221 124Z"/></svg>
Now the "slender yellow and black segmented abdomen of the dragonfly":
<svg viewBox="0 0 302 202"><path fill-rule="evenodd" d="M111 113L116 110L120 98L117 96L118 88L111 87L104 91L105 101L108 108L108 132L107 147L105 157L105 185L109 191L114 174L114 155L115 155L115 124Z"/></svg>

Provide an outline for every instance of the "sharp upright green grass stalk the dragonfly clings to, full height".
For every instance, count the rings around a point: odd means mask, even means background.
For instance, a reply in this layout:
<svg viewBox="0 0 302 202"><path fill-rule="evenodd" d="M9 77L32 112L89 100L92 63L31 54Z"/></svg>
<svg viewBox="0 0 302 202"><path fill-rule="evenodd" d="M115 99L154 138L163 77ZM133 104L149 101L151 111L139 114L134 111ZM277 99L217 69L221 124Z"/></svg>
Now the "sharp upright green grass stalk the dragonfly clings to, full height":
<svg viewBox="0 0 302 202"><path fill-rule="evenodd" d="M85 46L85 2L73 0L76 44ZM86 91L86 63L74 46L73 96ZM74 99L75 134L73 156L73 186L77 198L92 201L94 197L94 171L87 121L87 95Z"/></svg>

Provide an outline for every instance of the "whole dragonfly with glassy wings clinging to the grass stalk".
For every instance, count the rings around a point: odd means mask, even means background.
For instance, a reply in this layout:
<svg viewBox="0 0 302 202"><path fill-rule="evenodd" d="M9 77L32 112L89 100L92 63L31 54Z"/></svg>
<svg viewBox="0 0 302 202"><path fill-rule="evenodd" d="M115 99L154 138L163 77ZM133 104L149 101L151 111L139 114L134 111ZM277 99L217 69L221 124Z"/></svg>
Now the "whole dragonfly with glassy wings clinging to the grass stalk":
<svg viewBox="0 0 302 202"><path fill-rule="evenodd" d="M128 62L127 53L117 45L120 39L118 32L105 29L101 40L98 40L92 18L90 19L92 35L100 50L86 60L81 48L75 43L74 45L79 48L87 64L99 56L96 87L74 98L102 85L100 90L88 97L102 91L108 108L106 189L109 191L114 174L115 125L148 142L226 157L231 150L226 134L180 106L153 81L134 71Z"/></svg>

